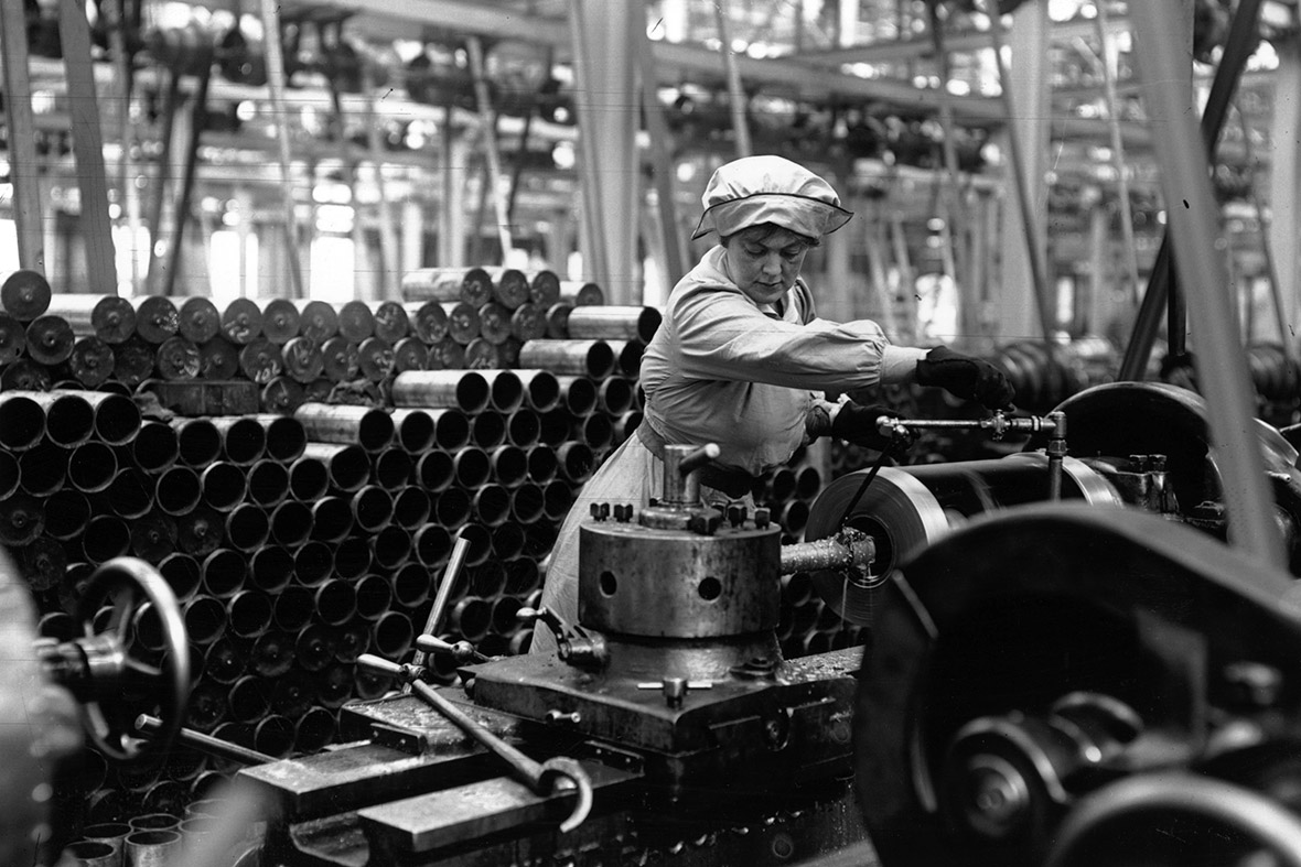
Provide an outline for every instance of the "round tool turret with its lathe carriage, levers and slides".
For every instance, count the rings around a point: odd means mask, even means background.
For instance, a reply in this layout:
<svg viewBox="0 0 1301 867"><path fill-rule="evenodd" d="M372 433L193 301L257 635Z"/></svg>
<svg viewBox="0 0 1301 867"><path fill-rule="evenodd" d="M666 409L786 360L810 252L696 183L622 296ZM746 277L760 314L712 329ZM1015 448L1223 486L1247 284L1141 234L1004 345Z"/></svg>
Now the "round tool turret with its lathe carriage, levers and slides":
<svg viewBox="0 0 1301 867"><path fill-rule="evenodd" d="M556 632L557 654L462 653L459 688L345 706L354 744L241 771L280 806L265 854L765 864L864 841L850 783L861 650L786 660L774 629L783 572L861 578L872 539L846 530L782 546L764 510L701 504L692 471L714 456L670 446L662 498L593 510L579 623L520 612ZM541 768L565 771L543 780Z"/></svg>

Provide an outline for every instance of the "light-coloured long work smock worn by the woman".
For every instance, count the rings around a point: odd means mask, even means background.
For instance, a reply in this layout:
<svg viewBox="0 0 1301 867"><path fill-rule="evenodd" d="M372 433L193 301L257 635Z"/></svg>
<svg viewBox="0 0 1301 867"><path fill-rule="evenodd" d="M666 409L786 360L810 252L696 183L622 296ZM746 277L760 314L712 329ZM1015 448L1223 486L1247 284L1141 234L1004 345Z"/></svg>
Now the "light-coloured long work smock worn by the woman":
<svg viewBox="0 0 1301 867"><path fill-rule="evenodd" d="M714 247L674 287L641 359L641 424L669 443L718 443L717 464L758 474L790 460L804 442L814 393L905 381L924 355L890 346L876 322L817 318L803 279L786 292L781 313L761 309L731 281L723 248ZM592 504L640 508L662 497L662 472L634 434L583 486L552 549L546 608L578 621L579 528ZM706 486L701 498L716 506L731 499ZM546 627L535 628L531 650L554 653Z"/></svg>

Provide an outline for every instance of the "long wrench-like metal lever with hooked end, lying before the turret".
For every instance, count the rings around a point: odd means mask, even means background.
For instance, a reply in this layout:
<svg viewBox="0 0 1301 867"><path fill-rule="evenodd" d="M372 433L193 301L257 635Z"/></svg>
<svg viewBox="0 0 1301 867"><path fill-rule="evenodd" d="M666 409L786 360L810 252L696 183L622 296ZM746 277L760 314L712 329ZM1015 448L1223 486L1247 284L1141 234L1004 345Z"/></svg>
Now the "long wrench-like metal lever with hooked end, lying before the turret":
<svg viewBox="0 0 1301 867"><path fill-rule="evenodd" d="M578 760L562 755L541 763L535 762L476 723L468 714L440 695L438 690L429 686L429 684L412 677L410 666L390 663L388 659L371 654L362 654L358 656L356 663L371 671L398 677L411 684L411 692L420 701L438 711L444 719L463 733L505 759L506 764L510 766L511 776L532 789L535 794L552 794L561 788L576 789L578 803L574 805L574 811L569 819L561 823L561 831L574 831L583 824L587 814L592 811L592 779Z"/></svg>

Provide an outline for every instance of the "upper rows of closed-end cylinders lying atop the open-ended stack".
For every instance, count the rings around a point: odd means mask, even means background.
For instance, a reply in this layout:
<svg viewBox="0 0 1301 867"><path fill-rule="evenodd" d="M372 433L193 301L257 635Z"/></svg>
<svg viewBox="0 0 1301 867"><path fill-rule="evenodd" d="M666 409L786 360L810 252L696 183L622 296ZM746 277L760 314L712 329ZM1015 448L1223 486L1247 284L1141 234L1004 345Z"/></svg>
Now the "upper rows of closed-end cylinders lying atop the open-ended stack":
<svg viewBox="0 0 1301 867"><path fill-rule="evenodd" d="M606 338L621 370L640 361L658 313L606 326L604 292L550 272L423 269L406 300L330 304L238 298L52 294L33 270L0 273L0 387L130 391L148 380L247 380L263 412L330 400L341 383L382 387L409 370L527 367L524 343ZM584 308L570 325L570 313Z"/></svg>

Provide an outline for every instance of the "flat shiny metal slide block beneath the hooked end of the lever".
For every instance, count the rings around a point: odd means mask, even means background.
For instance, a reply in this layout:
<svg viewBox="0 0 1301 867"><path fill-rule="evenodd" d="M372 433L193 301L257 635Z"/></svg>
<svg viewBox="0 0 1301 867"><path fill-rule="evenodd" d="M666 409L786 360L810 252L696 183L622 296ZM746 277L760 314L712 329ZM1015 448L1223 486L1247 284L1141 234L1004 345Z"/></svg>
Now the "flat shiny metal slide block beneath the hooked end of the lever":
<svg viewBox="0 0 1301 867"><path fill-rule="evenodd" d="M597 762L583 762L583 770L602 799L617 786L640 776ZM359 810L358 816L376 846L386 851L419 853L528 822L558 822L569 815L572 801L572 792L539 796L527 785L501 776L367 807Z"/></svg>

